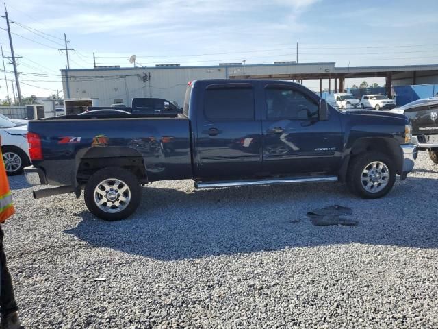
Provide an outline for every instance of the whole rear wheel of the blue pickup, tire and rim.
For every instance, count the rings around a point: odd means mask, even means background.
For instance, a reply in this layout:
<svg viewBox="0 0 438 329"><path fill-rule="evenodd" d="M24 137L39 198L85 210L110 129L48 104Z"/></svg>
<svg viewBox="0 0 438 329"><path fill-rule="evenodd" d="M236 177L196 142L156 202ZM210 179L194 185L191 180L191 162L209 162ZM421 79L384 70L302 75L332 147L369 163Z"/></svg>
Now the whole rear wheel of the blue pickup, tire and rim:
<svg viewBox="0 0 438 329"><path fill-rule="evenodd" d="M120 167L96 171L83 193L88 210L104 221L118 221L136 211L142 197L140 182Z"/></svg>

